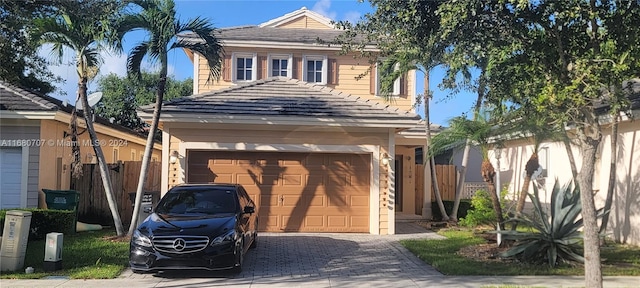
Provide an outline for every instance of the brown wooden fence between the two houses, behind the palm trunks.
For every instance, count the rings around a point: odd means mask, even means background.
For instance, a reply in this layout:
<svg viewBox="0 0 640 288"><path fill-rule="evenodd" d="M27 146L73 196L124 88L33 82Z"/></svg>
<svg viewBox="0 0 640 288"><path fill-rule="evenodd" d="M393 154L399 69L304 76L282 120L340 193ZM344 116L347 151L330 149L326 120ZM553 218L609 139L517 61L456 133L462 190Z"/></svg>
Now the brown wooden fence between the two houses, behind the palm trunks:
<svg viewBox="0 0 640 288"><path fill-rule="evenodd" d="M128 225L133 214L129 193L136 192L142 162L118 162L107 164L107 166L120 218L125 225ZM149 163L149 173L144 191L160 191L161 169L160 162ZM84 164L82 172L82 176L79 178L71 178L71 189L80 192L78 221L113 226L113 217L102 185L98 164Z"/></svg>

